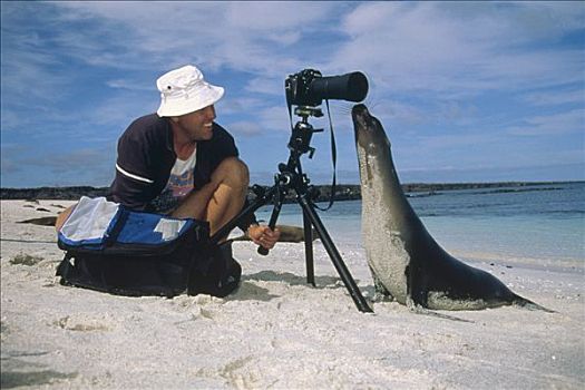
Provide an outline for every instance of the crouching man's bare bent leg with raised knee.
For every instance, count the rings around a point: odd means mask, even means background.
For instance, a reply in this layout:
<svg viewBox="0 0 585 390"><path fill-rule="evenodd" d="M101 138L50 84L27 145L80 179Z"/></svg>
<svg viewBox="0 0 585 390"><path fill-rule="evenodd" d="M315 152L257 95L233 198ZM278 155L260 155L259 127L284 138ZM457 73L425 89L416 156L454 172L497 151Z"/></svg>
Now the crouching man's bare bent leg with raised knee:
<svg viewBox="0 0 585 390"><path fill-rule="evenodd" d="M212 182L189 194L172 215L206 220L213 235L242 211L248 184L247 166L236 157L226 158L212 174Z"/></svg>

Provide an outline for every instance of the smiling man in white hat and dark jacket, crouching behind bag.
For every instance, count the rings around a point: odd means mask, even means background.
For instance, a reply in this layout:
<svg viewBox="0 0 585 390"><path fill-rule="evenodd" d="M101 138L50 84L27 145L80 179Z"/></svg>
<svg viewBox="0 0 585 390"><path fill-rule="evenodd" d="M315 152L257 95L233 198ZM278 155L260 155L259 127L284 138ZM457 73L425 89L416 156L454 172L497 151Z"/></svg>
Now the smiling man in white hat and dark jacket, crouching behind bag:
<svg viewBox="0 0 585 390"><path fill-rule="evenodd" d="M108 198L135 211L205 220L213 235L242 211L248 186L247 166L238 158L233 137L214 121L214 104L224 89L205 81L191 65L163 75L157 87L157 113L136 119L118 140ZM59 215L57 230L70 212ZM266 248L280 237L277 230L255 220L240 227ZM217 257L238 269L217 272L238 281L241 269L232 260L230 243L220 246L214 261Z"/></svg>

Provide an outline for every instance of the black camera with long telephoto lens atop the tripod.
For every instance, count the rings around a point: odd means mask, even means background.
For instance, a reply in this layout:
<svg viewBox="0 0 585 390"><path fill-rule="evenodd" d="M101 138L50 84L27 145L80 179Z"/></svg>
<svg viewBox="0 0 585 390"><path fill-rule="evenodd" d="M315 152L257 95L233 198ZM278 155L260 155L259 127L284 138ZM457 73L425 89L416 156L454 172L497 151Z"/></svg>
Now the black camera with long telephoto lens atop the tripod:
<svg viewBox="0 0 585 390"><path fill-rule="evenodd" d="M286 104L290 106L321 105L323 99L361 101L368 94L368 79L360 71L323 77L319 70L304 69L284 81Z"/></svg>

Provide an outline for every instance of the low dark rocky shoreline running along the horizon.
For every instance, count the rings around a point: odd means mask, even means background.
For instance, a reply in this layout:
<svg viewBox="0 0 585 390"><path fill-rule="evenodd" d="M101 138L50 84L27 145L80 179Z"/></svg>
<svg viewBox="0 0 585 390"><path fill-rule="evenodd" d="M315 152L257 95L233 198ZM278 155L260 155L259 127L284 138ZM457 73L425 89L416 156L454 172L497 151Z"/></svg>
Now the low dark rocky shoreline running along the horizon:
<svg viewBox="0 0 585 390"><path fill-rule="evenodd" d="M545 189L557 189L555 185L571 182L498 182L498 183L410 183L403 184L402 189L410 196L432 196L441 192L455 189L498 189L498 191L537 191L539 188L527 188L536 185L547 185ZM315 185L319 193L318 202L326 202L330 198L330 185ZM506 188L506 189L501 189ZM37 187L37 188L0 188L1 199L62 199L76 201L81 196L105 196L109 187L71 186L71 187ZM540 188L542 189L542 188ZM252 189L248 196L254 197ZM340 184L335 186L335 201L360 199L360 186L357 184ZM285 202L294 202L289 194Z"/></svg>

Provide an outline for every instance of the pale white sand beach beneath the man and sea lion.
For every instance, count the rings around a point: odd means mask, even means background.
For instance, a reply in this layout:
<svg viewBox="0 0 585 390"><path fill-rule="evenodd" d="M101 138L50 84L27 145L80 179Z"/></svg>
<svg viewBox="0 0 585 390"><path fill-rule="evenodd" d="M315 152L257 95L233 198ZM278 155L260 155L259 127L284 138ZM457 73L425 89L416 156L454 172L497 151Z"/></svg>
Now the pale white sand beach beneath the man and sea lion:
<svg viewBox="0 0 585 390"><path fill-rule="evenodd" d="M441 312L465 322L396 302L360 313L319 241L316 287L305 283L303 244L280 243L263 257L236 242L243 281L226 299L123 298L61 286L53 230L17 223L71 203L1 201L2 389L585 387L582 261L565 269L472 262L556 313ZM335 244L371 300L363 250Z"/></svg>

